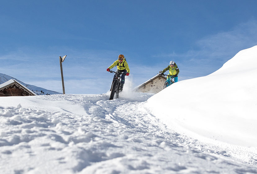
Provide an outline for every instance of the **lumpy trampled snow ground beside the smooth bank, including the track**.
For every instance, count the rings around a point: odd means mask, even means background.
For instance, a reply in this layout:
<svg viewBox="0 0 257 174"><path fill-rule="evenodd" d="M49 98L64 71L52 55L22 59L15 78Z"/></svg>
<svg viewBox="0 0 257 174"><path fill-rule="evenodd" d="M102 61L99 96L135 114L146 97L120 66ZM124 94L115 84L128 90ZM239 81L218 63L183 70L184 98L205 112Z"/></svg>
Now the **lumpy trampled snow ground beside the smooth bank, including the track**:
<svg viewBox="0 0 257 174"><path fill-rule="evenodd" d="M0 173L257 173L160 123L152 94L129 96L1 98Z"/></svg>

